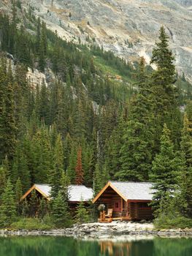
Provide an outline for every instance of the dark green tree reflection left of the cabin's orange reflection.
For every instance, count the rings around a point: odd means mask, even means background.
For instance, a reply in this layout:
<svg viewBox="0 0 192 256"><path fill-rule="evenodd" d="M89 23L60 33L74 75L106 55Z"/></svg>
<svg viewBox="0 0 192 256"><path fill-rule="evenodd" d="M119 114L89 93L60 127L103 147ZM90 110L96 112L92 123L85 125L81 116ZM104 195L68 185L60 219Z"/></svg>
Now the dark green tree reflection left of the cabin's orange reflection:
<svg viewBox="0 0 192 256"><path fill-rule="evenodd" d="M0 237L0 256L98 256L97 241L66 237Z"/></svg>

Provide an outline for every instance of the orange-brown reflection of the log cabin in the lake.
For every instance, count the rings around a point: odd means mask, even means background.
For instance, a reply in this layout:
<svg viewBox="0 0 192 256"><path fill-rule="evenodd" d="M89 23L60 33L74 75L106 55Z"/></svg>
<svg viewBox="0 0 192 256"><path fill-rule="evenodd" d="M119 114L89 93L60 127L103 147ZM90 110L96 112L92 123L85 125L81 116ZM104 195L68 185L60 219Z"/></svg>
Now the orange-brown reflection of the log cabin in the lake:
<svg viewBox="0 0 192 256"><path fill-rule="evenodd" d="M101 255L129 256L131 243L114 243L112 241L100 241Z"/></svg>

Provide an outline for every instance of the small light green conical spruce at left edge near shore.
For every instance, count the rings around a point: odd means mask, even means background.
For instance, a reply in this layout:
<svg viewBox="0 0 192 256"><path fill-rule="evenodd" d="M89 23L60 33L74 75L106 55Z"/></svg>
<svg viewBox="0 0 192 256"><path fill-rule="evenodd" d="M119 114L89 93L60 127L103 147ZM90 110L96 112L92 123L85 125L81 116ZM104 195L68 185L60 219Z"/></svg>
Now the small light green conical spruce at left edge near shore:
<svg viewBox="0 0 192 256"><path fill-rule="evenodd" d="M6 187L1 196L0 206L0 227L8 227L16 217L15 197L12 190L12 184L8 178Z"/></svg>

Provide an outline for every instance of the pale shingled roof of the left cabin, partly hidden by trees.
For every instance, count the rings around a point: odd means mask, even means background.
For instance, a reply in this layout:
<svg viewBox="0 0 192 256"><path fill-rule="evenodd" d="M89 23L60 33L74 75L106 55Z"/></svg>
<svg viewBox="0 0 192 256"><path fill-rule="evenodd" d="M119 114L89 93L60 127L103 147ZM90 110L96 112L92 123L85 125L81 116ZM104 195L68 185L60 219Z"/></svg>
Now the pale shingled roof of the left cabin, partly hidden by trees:
<svg viewBox="0 0 192 256"><path fill-rule="evenodd" d="M34 184L31 189L28 189L21 199L25 199L33 189L36 189L43 197L50 200L51 187L48 184ZM69 185L69 202L87 202L93 198L93 189L85 187L84 185Z"/></svg>

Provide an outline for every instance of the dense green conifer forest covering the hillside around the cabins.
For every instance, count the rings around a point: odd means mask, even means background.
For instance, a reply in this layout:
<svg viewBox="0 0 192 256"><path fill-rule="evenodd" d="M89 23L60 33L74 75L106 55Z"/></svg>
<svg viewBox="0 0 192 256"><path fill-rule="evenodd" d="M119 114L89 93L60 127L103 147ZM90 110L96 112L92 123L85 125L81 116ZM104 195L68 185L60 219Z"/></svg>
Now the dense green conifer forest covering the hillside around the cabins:
<svg viewBox="0 0 192 256"><path fill-rule="evenodd" d="M164 27L152 70L143 58L131 64L96 45L64 41L30 8L20 25L17 8L13 4L12 18L0 15L1 227L20 216L49 219L47 214L56 227L67 226L69 182L98 192L109 179L153 181L157 223L165 215L168 224L172 218L187 222L191 85L175 71ZM52 78L34 86L28 67ZM52 186L53 203L37 206L35 194L20 202L34 183ZM85 211L80 204L77 222Z"/></svg>

